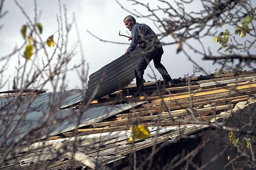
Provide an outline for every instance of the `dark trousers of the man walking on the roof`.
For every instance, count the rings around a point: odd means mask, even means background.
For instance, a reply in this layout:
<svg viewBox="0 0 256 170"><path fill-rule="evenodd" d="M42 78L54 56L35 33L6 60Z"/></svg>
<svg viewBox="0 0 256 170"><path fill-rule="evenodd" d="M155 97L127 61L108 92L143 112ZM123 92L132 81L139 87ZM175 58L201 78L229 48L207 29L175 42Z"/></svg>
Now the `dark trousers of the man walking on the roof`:
<svg viewBox="0 0 256 170"><path fill-rule="evenodd" d="M135 67L137 92L139 93L144 92L143 75L147 65L151 62L151 60L154 61L154 66L163 77L164 83L173 81L170 75L168 74L168 71L161 63L162 54L163 54L163 48L160 47L160 48L155 48L154 50L151 50L151 51L143 52L139 57L139 61Z"/></svg>

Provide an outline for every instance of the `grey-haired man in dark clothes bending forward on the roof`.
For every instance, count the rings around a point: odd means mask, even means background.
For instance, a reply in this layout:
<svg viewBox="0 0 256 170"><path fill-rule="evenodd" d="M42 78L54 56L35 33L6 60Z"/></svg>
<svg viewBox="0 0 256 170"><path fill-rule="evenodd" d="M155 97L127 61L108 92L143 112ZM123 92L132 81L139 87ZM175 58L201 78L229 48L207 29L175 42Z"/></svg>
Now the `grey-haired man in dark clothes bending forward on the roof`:
<svg viewBox="0 0 256 170"><path fill-rule="evenodd" d="M123 19L123 22L125 27L132 32L132 35L129 38L132 42L130 46L125 49L125 53L132 52L137 45L139 45L142 50L142 53L138 58L138 63L135 67L137 92L134 96L144 95L143 75L144 70L151 60L154 61L155 68L163 77L164 84L172 86L173 80L161 63L163 47L155 32L144 23L136 22L136 19L131 15L126 16Z"/></svg>

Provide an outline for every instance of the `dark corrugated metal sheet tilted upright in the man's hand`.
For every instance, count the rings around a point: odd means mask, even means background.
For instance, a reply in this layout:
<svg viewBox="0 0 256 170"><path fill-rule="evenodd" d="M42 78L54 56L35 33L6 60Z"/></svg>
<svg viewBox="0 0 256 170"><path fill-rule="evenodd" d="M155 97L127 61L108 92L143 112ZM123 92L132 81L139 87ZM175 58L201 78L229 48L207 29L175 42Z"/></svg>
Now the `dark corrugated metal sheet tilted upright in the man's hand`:
<svg viewBox="0 0 256 170"><path fill-rule="evenodd" d="M94 72L94 74L89 77L85 101L91 98L92 94L97 89L97 85L99 85L99 90L93 99L99 99L130 84L135 78L134 68L140 54L141 50L137 46L132 53L124 54Z"/></svg>

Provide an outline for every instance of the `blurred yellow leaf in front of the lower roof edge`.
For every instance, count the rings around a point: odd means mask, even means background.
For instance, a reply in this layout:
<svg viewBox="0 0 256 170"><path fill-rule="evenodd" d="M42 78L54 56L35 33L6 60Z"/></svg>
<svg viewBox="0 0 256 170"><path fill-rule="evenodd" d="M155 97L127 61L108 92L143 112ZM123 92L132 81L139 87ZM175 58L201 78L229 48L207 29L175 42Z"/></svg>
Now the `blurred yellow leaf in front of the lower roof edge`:
<svg viewBox="0 0 256 170"><path fill-rule="evenodd" d="M150 131L143 124L133 125L130 127L130 142L134 142L137 139L147 139L148 137L150 137Z"/></svg>

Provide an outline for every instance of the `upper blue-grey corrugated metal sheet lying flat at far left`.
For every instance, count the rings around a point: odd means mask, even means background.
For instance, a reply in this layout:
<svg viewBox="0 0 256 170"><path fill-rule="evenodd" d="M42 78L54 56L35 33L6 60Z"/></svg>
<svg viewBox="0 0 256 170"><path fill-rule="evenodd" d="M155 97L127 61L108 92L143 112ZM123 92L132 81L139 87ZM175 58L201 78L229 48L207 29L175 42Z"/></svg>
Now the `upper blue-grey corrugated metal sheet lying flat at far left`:
<svg viewBox="0 0 256 170"><path fill-rule="evenodd" d="M47 118L47 115L54 113L53 110L50 110L51 106L53 106L56 111L61 107L80 103L83 100L84 93L86 93L86 90L72 89L69 91L0 98L0 116L2 119L0 122L0 141L5 139L12 128L14 131L10 139L4 143L16 141L31 128L41 125ZM62 113L64 111L58 110L57 112ZM53 118L51 117L53 115L49 117ZM14 118L14 120L12 120L12 118ZM21 120L19 121L19 119ZM7 131L5 131L6 128Z"/></svg>

